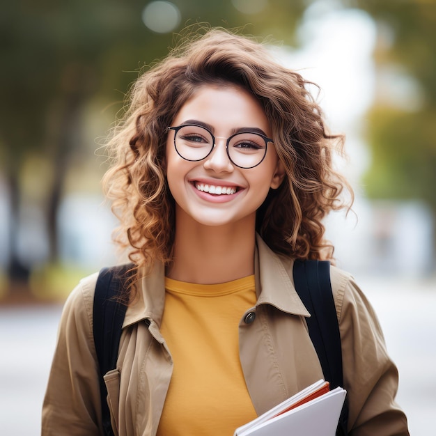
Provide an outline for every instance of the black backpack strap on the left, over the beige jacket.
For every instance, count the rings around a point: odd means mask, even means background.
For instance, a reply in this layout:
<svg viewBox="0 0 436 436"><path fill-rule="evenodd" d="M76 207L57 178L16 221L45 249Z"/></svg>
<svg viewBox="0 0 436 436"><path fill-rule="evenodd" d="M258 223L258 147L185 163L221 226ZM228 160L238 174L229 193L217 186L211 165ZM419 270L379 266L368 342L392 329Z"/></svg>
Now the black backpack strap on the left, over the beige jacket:
<svg viewBox="0 0 436 436"><path fill-rule="evenodd" d="M93 305L93 334L100 368L100 399L104 435L114 435L103 375L116 368L121 329L127 306L117 297L125 288L132 264L103 268L98 274Z"/></svg>

